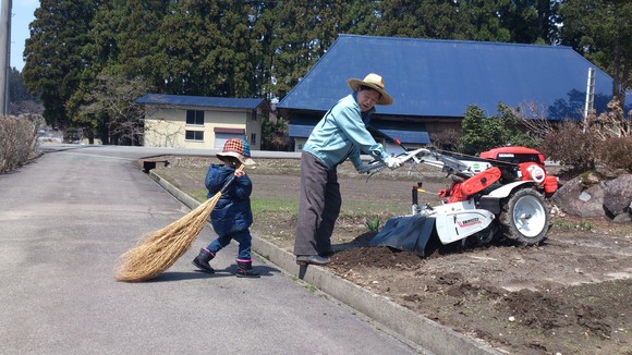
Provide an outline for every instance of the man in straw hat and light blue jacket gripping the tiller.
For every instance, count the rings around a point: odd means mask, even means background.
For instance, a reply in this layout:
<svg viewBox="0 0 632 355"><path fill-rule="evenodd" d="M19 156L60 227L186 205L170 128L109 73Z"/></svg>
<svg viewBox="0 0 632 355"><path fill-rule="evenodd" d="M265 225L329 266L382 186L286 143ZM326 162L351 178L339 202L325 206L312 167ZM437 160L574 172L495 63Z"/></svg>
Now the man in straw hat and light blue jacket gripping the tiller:
<svg viewBox="0 0 632 355"><path fill-rule="evenodd" d="M331 234L342 199L336 169L350 159L355 169L361 152L381 160L390 169L401 166L366 130L365 122L375 105L391 105L381 76L370 73L364 79L347 81L352 94L336 103L318 122L301 155L301 198L294 254L301 265L329 262Z"/></svg>

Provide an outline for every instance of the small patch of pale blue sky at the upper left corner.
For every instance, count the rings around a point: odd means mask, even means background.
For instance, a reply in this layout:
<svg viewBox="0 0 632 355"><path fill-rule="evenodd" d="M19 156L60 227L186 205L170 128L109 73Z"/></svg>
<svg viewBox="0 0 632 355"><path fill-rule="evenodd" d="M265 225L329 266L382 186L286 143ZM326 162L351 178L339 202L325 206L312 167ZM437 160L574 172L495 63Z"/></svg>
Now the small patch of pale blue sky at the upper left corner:
<svg viewBox="0 0 632 355"><path fill-rule="evenodd" d="M39 0L13 0L11 16L11 68L22 72L24 68L24 41L31 37L28 24L35 20L34 12L39 8Z"/></svg>

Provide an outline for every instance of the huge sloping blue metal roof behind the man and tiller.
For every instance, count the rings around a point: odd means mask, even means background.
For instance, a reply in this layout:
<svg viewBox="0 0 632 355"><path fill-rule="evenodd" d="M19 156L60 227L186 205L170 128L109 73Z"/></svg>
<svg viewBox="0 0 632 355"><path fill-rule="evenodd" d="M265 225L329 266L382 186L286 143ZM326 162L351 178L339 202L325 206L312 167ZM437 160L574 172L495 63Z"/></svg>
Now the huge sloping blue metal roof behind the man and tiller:
<svg viewBox="0 0 632 355"><path fill-rule="evenodd" d="M576 118L588 68L595 65L570 47L340 35L278 108L327 111L350 93L348 78L373 72L394 99L377 106L378 114L461 118L476 105L494 115L499 102L535 102L549 119ZM595 76L601 112L612 78L599 69Z"/></svg>

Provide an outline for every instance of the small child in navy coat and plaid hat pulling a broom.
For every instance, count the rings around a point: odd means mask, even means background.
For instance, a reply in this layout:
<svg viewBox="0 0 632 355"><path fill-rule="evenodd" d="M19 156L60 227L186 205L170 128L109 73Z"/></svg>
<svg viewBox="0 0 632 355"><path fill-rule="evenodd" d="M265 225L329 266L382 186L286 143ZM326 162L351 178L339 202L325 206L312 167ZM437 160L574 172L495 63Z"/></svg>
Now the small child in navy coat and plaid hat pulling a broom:
<svg viewBox="0 0 632 355"><path fill-rule="evenodd" d="M258 278L253 270L251 258L252 236L250 227L253 224L251 210L251 193L253 184L251 179L241 170L241 164L254 164L251 159L251 148L243 139L228 139L223 145L222 152L217 158L223 164L210 164L206 173L205 185L208 189L207 197L212 197L234 175L234 181L227 192L217 201L211 215L210 222L218 237L206 248L199 249L199 255L193 259L193 265L204 272L214 273L210 261L217 252L226 247L231 240L239 243L238 278Z"/></svg>

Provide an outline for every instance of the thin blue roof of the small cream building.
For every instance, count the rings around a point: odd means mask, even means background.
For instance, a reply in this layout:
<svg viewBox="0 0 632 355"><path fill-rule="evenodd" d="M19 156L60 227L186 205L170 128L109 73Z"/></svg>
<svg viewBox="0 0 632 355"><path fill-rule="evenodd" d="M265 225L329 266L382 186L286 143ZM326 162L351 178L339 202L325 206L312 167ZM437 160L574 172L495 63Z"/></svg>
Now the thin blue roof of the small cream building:
<svg viewBox="0 0 632 355"><path fill-rule="evenodd" d="M147 94L134 102L254 110L264 103L264 99Z"/></svg>

